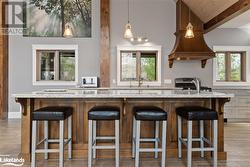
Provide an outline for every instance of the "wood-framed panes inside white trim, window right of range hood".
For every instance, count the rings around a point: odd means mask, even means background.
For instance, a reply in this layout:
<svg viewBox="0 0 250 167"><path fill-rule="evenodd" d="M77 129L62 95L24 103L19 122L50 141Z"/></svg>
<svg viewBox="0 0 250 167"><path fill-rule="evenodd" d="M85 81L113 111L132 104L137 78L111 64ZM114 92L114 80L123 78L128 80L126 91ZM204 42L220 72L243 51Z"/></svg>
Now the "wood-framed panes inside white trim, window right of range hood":
<svg viewBox="0 0 250 167"><path fill-rule="evenodd" d="M245 82L246 52L216 52L216 81Z"/></svg>

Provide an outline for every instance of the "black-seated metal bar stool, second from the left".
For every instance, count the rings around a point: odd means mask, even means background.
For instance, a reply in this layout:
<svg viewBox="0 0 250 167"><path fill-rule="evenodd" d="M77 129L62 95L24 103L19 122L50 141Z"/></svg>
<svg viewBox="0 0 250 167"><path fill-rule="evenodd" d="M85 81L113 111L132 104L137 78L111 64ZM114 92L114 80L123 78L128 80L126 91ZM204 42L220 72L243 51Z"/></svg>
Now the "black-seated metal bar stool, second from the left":
<svg viewBox="0 0 250 167"><path fill-rule="evenodd" d="M88 141L88 167L92 167L92 157L96 158L96 149L115 149L115 164L119 167L119 123L120 109L111 106L93 107L88 112L89 141ZM115 136L96 136L96 121L115 121ZM98 146L97 140L115 140L115 145Z"/></svg>

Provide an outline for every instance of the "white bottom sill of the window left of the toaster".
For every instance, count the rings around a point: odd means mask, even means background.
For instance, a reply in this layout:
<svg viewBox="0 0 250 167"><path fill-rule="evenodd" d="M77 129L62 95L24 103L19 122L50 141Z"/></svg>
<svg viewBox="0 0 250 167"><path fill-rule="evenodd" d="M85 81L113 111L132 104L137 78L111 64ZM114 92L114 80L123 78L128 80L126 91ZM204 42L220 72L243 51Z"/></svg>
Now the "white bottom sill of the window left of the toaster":
<svg viewBox="0 0 250 167"><path fill-rule="evenodd" d="M34 86L76 86L77 81L36 81Z"/></svg>

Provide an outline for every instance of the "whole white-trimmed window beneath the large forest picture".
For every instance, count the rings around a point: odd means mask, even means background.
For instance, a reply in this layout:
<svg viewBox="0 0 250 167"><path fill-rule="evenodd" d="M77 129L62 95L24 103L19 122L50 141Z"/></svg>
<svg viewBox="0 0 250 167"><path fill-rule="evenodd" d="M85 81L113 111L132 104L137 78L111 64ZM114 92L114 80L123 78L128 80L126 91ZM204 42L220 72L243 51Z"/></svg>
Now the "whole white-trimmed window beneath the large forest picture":
<svg viewBox="0 0 250 167"><path fill-rule="evenodd" d="M33 84L76 84L77 50L77 46L74 45L34 45Z"/></svg>

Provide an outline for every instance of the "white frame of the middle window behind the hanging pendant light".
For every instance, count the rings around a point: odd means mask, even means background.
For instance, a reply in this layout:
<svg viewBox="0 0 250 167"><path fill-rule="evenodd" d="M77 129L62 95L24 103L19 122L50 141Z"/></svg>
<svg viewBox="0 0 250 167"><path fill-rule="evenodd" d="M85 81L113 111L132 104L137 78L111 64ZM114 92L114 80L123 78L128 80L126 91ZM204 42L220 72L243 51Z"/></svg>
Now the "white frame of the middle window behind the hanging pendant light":
<svg viewBox="0 0 250 167"><path fill-rule="evenodd" d="M121 80L122 52L156 52L156 81L143 81L141 86L161 86L161 46L117 46L117 86L138 86L138 81ZM137 73L138 71L137 67Z"/></svg>

